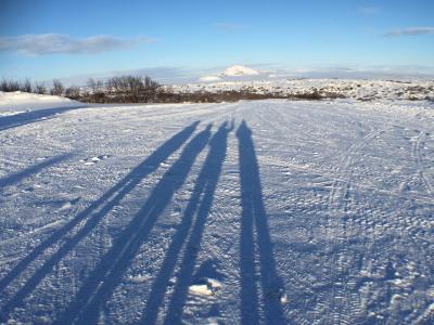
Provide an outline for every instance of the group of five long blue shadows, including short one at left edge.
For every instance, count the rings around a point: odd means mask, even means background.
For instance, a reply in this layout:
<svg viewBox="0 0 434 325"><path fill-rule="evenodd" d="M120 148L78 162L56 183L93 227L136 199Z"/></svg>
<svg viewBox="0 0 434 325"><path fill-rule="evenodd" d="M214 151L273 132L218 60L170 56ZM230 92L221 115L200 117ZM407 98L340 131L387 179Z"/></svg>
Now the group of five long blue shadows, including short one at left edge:
<svg viewBox="0 0 434 325"><path fill-rule="evenodd" d="M214 134L212 125L195 133L197 126L199 121L175 134L99 199L62 227L53 231L24 259L20 260L0 281L0 297L3 299L5 289L13 282L21 281L17 291L7 295L11 298L0 302L0 322L8 322L15 308L25 306L26 297L31 295L53 268L98 226L104 216L118 205L141 180L154 172L163 161L182 147L178 159L157 182L137 214L120 231L113 245L98 261L97 266L89 271L89 275L84 280L69 304L63 311L54 312L55 324L98 323L100 311L122 283L124 274L141 245L145 243L158 217L170 203L174 194L181 188L199 154L208 146L207 156L199 172L182 219L176 226L159 271L155 274L140 322L142 324L156 323L168 284L174 276L176 264L179 263L177 281L169 297L164 324L181 323L189 286L194 276L199 247L226 159L228 135L234 129L231 121L221 123ZM245 121L239 126L237 138L242 206L239 237L241 322L243 324L284 324L286 321L282 304L276 295L283 291L283 283L277 272L272 252L252 131ZM186 142L188 143L184 145ZM67 156L59 156L48 159L20 173L0 179L0 190L66 158ZM81 226L78 227L79 225ZM21 280L22 273L47 253L53 245L60 245L60 248L43 260L28 278ZM259 289L261 295L259 295Z"/></svg>

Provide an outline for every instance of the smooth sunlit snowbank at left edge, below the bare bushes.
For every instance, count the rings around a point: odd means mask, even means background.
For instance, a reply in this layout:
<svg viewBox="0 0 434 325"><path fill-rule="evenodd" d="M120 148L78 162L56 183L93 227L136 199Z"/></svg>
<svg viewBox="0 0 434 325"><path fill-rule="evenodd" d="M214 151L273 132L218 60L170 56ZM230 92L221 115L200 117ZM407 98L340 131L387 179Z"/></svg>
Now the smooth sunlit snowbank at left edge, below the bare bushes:
<svg viewBox="0 0 434 325"><path fill-rule="evenodd" d="M76 105L76 101L61 96L36 94L22 91L0 91L0 112L10 112L16 109L41 109Z"/></svg>

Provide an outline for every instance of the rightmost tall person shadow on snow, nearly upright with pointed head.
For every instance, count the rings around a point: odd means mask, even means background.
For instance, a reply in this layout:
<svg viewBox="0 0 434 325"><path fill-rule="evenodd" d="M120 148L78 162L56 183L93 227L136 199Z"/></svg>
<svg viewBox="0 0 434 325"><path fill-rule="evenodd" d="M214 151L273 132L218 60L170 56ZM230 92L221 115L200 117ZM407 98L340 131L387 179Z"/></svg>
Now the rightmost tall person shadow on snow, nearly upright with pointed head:
<svg viewBox="0 0 434 325"><path fill-rule="evenodd" d="M272 252L252 131L245 121L242 121L237 131L237 136L239 140L242 206L240 234L241 321L243 324L260 323L255 270L257 264L255 261L255 244L257 244L265 323L285 324L286 321L280 302L280 295L283 294L283 282L278 274Z"/></svg>

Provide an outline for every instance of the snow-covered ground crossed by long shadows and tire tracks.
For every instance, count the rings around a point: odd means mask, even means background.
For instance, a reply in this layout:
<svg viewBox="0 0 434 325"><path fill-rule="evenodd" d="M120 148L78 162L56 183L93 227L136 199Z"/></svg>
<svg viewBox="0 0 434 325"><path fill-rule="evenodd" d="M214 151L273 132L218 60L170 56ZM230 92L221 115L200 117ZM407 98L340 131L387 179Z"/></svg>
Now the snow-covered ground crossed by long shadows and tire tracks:
<svg viewBox="0 0 434 325"><path fill-rule="evenodd" d="M0 322L432 324L434 104L395 87L0 116Z"/></svg>

